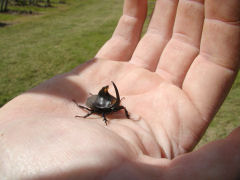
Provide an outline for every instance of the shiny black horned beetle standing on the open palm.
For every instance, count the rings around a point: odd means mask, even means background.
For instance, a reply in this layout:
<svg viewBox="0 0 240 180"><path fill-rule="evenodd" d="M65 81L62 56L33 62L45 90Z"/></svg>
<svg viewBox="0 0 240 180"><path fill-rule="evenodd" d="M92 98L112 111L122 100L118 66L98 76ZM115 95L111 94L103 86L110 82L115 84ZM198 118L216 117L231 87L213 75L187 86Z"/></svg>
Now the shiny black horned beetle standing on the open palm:
<svg viewBox="0 0 240 180"><path fill-rule="evenodd" d="M113 84L113 87L114 87L115 92L116 92L116 97L109 94L109 92L108 92L109 86L104 86L98 92L97 95L91 95L87 99L87 101L86 101L87 107L78 105L74 101L79 108L82 108L82 109L85 109L85 110L88 111L88 114L86 114L85 116L76 116L76 117L86 118L86 117L90 116L91 114L99 114L99 115L103 116L103 120L107 125L107 122L108 122L108 120L106 118L107 114L111 114L113 112L117 112L121 109L124 109L125 115L129 119L129 114L128 114L127 109L124 106L120 105L121 100L120 100L120 96L119 96L117 86L115 85L114 82L112 82L112 84Z"/></svg>

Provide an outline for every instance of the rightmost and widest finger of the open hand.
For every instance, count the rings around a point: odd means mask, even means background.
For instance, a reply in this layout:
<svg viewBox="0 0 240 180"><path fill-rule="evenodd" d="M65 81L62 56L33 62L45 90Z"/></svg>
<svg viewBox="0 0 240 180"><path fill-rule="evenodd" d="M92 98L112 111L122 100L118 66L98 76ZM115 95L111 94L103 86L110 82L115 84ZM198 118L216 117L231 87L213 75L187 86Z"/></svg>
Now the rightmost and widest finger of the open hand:
<svg viewBox="0 0 240 180"><path fill-rule="evenodd" d="M205 2L200 54L183 83L183 90L201 113L205 128L223 102L239 68L239 6L239 0Z"/></svg>

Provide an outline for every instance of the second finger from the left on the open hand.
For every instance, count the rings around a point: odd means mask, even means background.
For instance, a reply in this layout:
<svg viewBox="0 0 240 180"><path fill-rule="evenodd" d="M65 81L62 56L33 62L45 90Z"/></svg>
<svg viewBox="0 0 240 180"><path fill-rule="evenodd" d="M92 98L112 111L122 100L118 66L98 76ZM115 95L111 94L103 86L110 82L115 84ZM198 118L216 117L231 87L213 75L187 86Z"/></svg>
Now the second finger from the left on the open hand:
<svg viewBox="0 0 240 180"><path fill-rule="evenodd" d="M131 63L155 71L160 55L172 35L177 0L157 0L146 34L139 42Z"/></svg>

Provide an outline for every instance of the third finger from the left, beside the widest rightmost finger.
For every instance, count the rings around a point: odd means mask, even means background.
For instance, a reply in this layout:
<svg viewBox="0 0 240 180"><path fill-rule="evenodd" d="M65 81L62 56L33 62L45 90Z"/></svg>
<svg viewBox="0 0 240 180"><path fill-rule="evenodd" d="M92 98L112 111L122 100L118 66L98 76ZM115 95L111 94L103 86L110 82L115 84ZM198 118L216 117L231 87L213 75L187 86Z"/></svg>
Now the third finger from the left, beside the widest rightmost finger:
<svg viewBox="0 0 240 180"><path fill-rule="evenodd" d="M204 20L204 0L180 0L171 40L164 49L156 72L177 86L199 53Z"/></svg>

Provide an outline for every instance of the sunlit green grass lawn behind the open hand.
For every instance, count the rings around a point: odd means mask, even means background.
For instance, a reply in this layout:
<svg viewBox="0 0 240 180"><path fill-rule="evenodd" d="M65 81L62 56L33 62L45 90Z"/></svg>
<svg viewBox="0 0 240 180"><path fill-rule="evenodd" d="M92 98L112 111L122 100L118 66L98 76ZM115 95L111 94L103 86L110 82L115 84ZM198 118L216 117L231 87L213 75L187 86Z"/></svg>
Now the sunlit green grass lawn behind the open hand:
<svg viewBox="0 0 240 180"><path fill-rule="evenodd" d="M33 15L0 14L0 24L8 24L0 27L0 107L21 92L92 58L111 36L122 8L119 0L66 2L33 8ZM239 86L240 76L201 145L225 137L239 125Z"/></svg>

